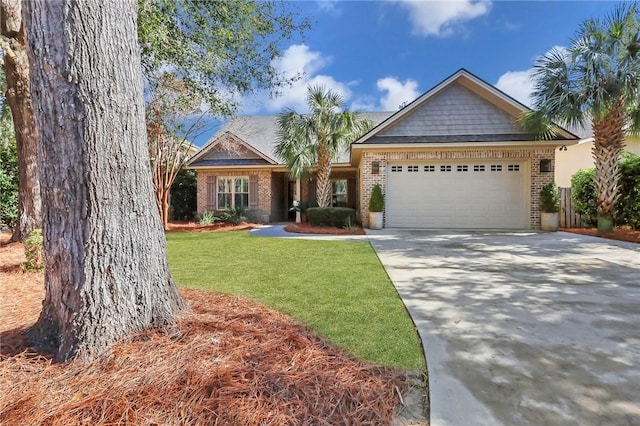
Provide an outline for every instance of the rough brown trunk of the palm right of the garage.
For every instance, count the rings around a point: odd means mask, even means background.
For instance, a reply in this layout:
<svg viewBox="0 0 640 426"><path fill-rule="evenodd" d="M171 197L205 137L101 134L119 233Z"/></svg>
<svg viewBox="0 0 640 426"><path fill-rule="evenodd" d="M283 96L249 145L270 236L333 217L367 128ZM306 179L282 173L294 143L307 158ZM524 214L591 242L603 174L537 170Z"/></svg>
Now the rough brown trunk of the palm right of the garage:
<svg viewBox="0 0 640 426"><path fill-rule="evenodd" d="M620 197L620 155L624 150L624 102L600 120L593 121L593 158L598 193L598 235L613 231L613 212Z"/></svg>

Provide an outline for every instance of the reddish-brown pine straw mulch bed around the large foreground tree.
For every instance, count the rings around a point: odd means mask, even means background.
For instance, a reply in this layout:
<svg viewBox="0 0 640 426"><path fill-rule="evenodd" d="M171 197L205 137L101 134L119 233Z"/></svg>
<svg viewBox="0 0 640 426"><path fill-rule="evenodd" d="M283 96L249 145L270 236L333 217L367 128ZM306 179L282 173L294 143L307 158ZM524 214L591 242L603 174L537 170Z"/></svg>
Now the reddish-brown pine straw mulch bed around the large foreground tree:
<svg viewBox="0 0 640 426"><path fill-rule="evenodd" d="M6 238L3 238L6 241ZM42 275L0 241L0 424L383 425L407 382L252 301L187 290L179 331L147 331L87 363L25 348Z"/></svg>

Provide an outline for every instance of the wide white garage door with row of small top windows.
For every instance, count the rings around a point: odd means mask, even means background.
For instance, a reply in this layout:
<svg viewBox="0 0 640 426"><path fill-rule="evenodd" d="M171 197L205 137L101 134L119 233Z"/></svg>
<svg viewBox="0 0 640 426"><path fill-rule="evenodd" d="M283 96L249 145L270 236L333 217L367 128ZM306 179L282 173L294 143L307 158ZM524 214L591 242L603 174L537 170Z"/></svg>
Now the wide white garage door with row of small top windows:
<svg viewBox="0 0 640 426"><path fill-rule="evenodd" d="M523 161L390 163L386 226L528 228Z"/></svg>

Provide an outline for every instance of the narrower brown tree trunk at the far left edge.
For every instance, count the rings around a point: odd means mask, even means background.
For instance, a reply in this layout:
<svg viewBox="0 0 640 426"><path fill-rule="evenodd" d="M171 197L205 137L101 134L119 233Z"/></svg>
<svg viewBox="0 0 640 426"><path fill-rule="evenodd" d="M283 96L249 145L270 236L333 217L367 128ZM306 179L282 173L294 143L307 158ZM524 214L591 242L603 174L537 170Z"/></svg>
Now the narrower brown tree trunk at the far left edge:
<svg viewBox="0 0 640 426"><path fill-rule="evenodd" d="M0 32L7 79L6 99L16 132L18 152L18 222L12 241L22 241L42 226L38 177L37 129L29 90L29 61L22 22L21 0L2 0Z"/></svg>

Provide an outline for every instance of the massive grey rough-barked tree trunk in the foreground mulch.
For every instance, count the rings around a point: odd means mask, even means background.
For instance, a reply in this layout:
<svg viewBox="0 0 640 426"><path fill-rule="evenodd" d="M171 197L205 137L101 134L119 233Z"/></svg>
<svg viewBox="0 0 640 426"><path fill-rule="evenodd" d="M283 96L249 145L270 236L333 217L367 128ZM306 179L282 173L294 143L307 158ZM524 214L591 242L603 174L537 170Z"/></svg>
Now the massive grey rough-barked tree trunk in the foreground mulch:
<svg viewBox="0 0 640 426"><path fill-rule="evenodd" d="M46 260L29 336L59 361L89 360L185 307L151 183L136 0L24 9Z"/></svg>

